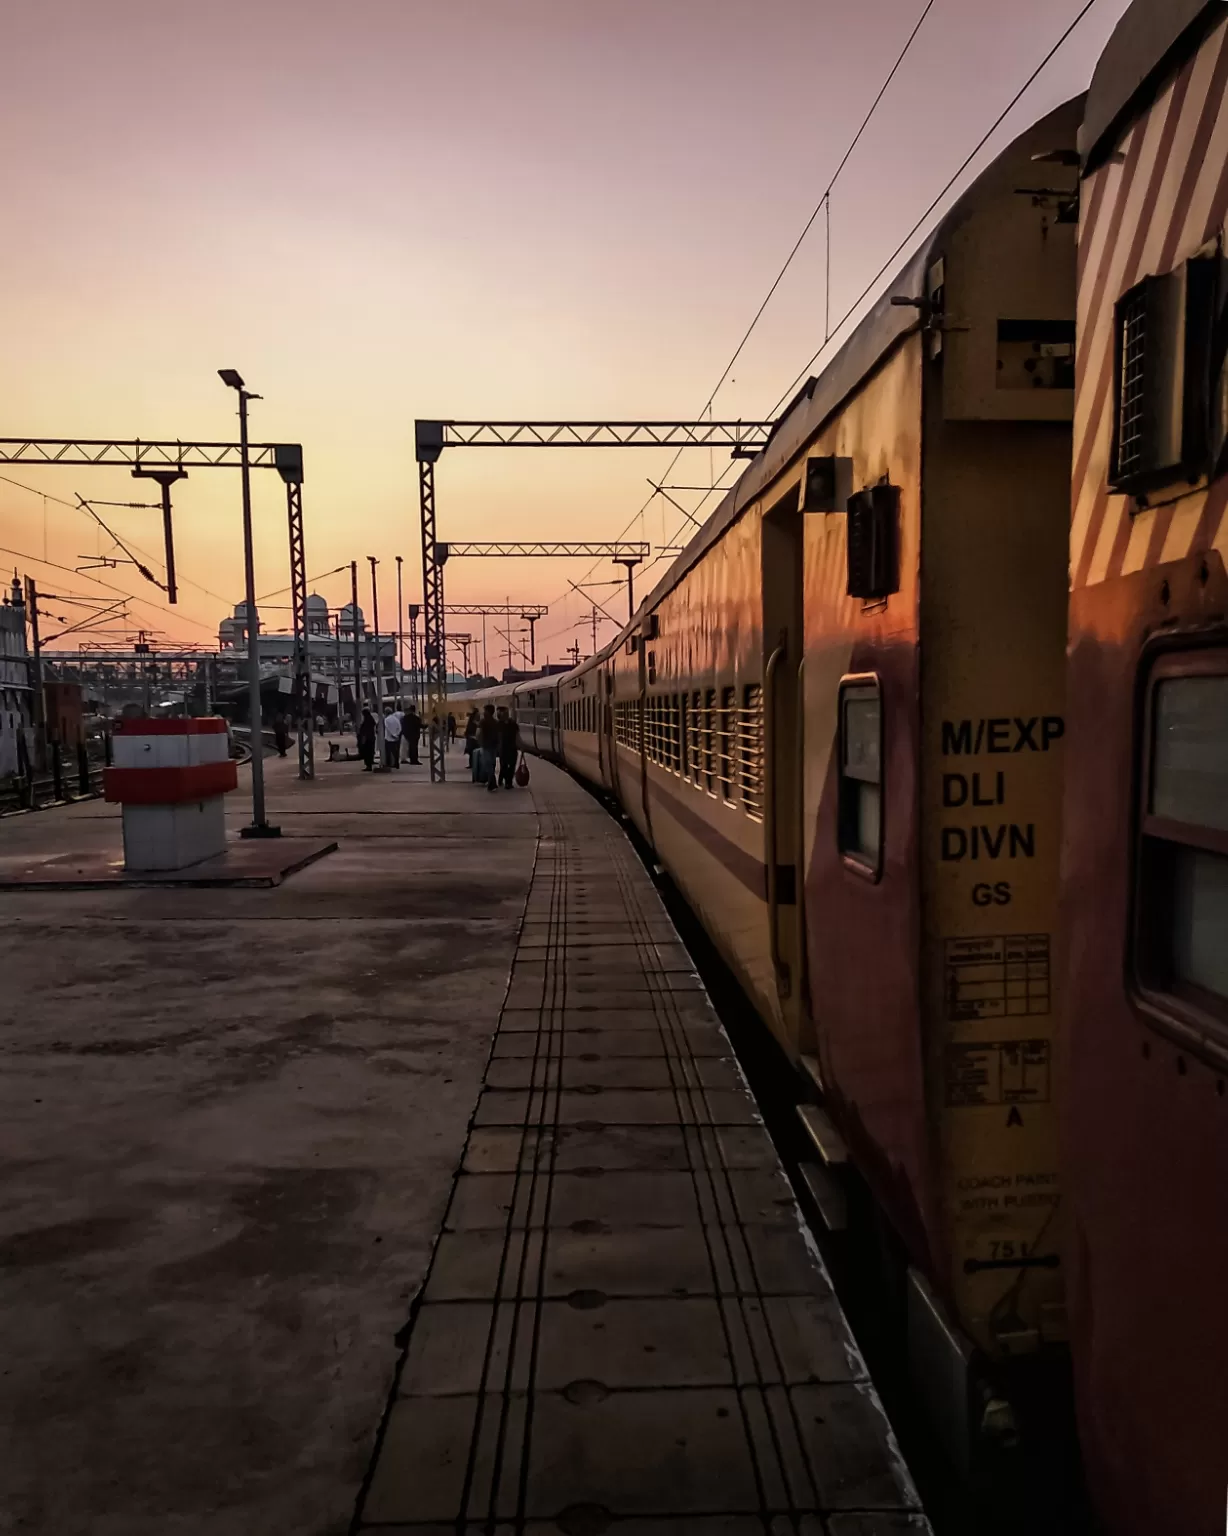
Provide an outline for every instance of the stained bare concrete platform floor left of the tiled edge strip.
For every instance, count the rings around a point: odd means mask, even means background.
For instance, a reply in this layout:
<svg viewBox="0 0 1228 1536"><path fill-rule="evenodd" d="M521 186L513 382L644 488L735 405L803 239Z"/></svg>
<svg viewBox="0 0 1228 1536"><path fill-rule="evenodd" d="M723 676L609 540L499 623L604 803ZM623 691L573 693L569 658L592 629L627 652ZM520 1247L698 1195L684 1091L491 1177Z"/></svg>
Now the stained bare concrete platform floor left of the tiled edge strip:
<svg viewBox="0 0 1228 1536"><path fill-rule="evenodd" d="M266 768L286 834L340 842L278 886L0 891L6 1536L349 1528L538 816ZM0 859L118 846L100 800L0 822Z"/></svg>

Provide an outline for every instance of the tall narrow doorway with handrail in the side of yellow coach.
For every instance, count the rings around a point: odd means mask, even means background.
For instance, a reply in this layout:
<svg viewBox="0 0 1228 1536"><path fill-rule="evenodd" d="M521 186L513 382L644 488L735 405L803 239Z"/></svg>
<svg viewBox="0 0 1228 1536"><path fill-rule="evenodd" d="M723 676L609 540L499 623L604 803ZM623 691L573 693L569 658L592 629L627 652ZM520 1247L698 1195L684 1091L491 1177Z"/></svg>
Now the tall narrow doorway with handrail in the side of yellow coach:
<svg viewBox="0 0 1228 1536"><path fill-rule="evenodd" d="M779 498L762 521L762 730L764 862L768 943L785 1038L795 1055L815 1049L805 986L802 895L801 679L802 515L799 488Z"/></svg>

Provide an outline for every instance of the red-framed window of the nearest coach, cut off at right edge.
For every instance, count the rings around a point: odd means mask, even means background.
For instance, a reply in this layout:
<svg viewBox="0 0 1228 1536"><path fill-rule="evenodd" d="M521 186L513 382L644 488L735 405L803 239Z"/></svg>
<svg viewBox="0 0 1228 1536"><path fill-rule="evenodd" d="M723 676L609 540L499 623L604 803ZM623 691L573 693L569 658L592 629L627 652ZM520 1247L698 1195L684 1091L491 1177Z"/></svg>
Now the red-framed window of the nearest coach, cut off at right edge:
<svg viewBox="0 0 1228 1536"><path fill-rule="evenodd" d="M1136 977L1182 1023L1225 1032L1228 651L1163 657L1145 697Z"/></svg>

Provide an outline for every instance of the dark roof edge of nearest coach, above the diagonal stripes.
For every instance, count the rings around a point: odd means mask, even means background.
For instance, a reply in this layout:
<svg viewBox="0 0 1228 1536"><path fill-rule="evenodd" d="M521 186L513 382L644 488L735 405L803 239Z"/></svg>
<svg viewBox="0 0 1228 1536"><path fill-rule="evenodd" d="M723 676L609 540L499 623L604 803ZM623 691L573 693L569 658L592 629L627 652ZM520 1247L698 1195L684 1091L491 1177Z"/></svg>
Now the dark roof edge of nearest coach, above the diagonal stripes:
<svg viewBox="0 0 1228 1536"><path fill-rule="evenodd" d="M1225 0L1134 0L1091 77L1079 134L1084 174L1104 164L1128 124L1225 15Z"/></svg>

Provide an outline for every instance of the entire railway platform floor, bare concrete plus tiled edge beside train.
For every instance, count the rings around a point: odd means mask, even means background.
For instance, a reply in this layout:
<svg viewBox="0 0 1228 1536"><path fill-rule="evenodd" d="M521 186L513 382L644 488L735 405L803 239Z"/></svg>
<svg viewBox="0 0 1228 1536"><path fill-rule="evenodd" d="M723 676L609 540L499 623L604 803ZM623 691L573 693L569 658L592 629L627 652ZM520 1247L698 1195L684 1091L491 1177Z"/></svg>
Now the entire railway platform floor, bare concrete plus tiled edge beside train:
<svg viewBox="0 0 1228 1536"><path fill-rule="evenodd" d="M11 1528L928 1530L632 845L453 762L270 762L277 886L0 891Z"/></svg>

